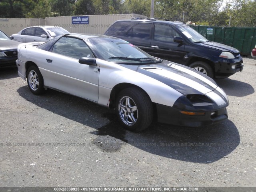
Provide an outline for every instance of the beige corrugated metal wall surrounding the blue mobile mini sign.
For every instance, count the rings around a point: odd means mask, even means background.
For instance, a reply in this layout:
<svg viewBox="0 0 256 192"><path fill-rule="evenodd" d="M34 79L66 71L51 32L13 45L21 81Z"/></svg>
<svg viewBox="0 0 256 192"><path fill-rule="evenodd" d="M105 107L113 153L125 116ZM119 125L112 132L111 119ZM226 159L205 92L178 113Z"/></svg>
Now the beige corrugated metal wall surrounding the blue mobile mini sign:
<svg viewBox="0 0 256 192"><path fill-rule="evenodd" d="M70 33L104 34L111 24L117 20L126 20L133 17L146 18L146 16L138 14L88 15L89 24L72 24L72 17L83 16L46 17L45 19L0 18L0 30L11 36L26 27L50 25L62 27Z"/></svg>

